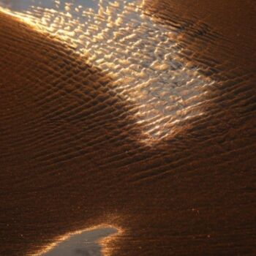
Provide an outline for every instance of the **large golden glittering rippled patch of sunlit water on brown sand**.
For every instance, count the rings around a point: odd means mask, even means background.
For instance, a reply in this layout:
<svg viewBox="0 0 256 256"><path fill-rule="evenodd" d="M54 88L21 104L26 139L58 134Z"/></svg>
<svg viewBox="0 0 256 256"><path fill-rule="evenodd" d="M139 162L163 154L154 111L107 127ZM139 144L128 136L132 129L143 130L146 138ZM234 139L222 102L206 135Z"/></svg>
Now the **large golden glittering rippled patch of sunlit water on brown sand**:
<svg viewBox="0 0 256 256"><path fill-rule="evenodd" d="M99 0L98 9L73 2L64 10L40 6L11 13L38 31L66 42L113 78L110 88L134 106L143 143L176 133L181 123L203 115L214 80L182 59L175 26L147 15L143 1Z"/></svg>

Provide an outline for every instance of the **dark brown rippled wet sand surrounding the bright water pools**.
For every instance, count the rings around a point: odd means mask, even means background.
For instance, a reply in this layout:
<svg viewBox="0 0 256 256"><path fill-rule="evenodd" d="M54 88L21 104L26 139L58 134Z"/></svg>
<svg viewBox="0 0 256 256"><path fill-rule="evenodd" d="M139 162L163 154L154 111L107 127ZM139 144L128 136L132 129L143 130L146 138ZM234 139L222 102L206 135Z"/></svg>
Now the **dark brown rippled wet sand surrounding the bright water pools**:
<svg viewBox="0 0 256 256"><path fill-rule="evenodd" d="M243 2L148 2L183 28L181 59L216 81L203 115L154 146L113 77L0 13L0 255L97 225L124 231L110 255L255 255L255 6Z"/></svg>

